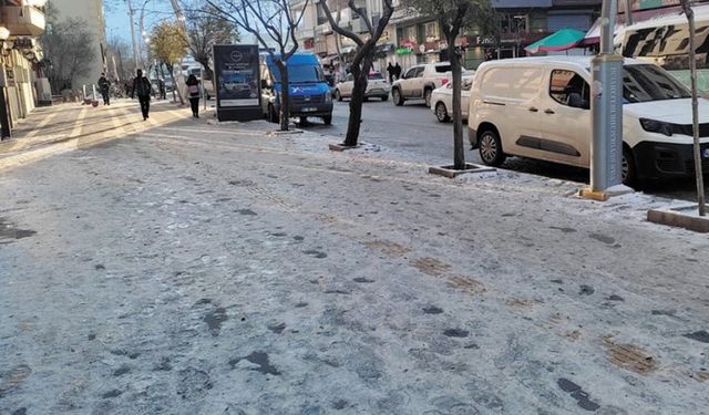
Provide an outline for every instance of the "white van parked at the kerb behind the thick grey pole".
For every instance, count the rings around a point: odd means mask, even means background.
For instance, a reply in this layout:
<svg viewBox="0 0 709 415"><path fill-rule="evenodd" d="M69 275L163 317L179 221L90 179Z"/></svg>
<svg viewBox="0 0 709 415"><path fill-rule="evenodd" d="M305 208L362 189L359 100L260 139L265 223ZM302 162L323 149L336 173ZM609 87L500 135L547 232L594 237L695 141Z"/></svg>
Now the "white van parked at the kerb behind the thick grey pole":
<svg viewBox="0 0 709 415"><path fill-rule="evenodd" d="M483 163L522 156L588 168L590 56L483 63L471 91L469 139ZM693 176L690 92L661 68L625 61L623 180ZM700 98L703 168L709 173L709 101Z"/></svg>

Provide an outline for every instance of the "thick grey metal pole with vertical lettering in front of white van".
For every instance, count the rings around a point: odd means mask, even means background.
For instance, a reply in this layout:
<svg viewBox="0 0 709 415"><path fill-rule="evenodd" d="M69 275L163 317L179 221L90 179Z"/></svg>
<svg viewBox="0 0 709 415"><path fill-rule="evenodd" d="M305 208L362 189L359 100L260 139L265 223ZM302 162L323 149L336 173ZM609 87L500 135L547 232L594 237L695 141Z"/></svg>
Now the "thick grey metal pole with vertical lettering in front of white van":
<svg viewBox="0 0 709 415"><path fill-rule="evenodd" d="M608 194L620 189L623 157L623 56L614 51L617 0L604 0L600 17L600 53L592 61L590 190ZM625 191L625 190L623 190Z"/></svg>

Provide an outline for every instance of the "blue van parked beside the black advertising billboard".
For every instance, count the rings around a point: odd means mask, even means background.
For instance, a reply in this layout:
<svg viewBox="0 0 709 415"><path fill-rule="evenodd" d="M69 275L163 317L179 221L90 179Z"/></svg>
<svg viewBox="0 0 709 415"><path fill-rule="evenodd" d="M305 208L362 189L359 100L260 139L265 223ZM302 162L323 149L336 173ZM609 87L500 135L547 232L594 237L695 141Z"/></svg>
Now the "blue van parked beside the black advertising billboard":
<svg viewBox="0 0 709 415"><path fill-rule="evenodd" d="M295 53L286 64L290 91L290 116L299 117L301 122L308 117L322 118L325 124L331 124L332 92L318 58L312 53ZM282 84L280 72L268 53L260 56L260 72L264 116L277 123Z"/></svg>

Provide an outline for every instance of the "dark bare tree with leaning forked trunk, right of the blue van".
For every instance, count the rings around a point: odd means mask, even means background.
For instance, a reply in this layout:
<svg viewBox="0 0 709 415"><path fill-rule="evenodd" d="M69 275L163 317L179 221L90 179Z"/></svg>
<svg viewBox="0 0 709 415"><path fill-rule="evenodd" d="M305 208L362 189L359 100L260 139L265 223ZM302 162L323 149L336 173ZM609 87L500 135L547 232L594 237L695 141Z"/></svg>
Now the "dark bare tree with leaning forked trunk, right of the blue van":
<svg viewBox="0 0 709 415"><path fill-rule="evenodd" d="M343 143L343 145L348 147L356 146L359 139L360 126L362 124L362 103L364 102L364 94L367 93L369 71L374 62L377 42L379 42L387 24L389 24L389 19L391 19L391 15L394 12L392 0L382 0L382 2L384 10L377 27L372 24L372 21L367 15L367 10L364 8L358 8L354 4L354 0L349 0L347 3L350 10L362 19L364 24L367 24L367 37L360 37L353 31L340 27L339 17L338 20L332 17L332 12L330 11L327 1L323 0L320 3L332 30L345 38L352 40L357 44L354 58L350 64L350 71L354 79L354 86L352 89L352 98L350 100L350 117L347 124L347 135L345 136Z"/></svg>

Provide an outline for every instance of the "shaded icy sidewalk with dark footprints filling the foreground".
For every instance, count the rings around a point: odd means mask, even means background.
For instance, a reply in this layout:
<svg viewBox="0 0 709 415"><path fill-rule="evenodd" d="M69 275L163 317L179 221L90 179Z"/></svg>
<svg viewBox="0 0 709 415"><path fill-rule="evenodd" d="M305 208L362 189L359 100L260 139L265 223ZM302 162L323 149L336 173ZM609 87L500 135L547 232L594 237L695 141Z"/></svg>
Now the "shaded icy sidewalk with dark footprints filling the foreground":
<svg viewBox="0 0 709 415"><path fill-rule="evenodd" d="M0 413L708 413L666 201L174 120L6 165Z"/></svg>

